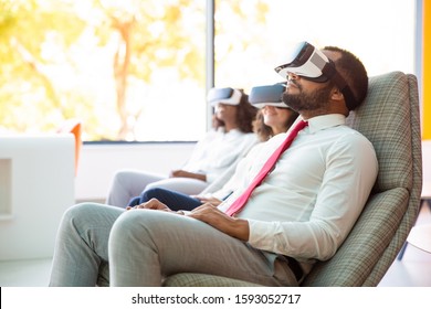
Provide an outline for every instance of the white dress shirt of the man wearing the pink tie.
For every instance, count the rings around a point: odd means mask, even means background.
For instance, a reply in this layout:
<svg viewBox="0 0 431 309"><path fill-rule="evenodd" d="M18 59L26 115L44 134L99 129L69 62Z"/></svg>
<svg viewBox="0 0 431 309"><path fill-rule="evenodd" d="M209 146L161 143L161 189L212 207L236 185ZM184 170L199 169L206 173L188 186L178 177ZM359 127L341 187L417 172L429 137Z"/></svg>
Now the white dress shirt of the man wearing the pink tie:
<svg viewBox="0 0 431 309"><path fill-rule="evenodd" d="M249 158L248 173L221 210L245 190L285 137L273 137ZM362 211L377 172L371 142L346 126L345 116L314 117L236 216L249 221L253 247L292 256L307 268L335 254Z"/></svg>

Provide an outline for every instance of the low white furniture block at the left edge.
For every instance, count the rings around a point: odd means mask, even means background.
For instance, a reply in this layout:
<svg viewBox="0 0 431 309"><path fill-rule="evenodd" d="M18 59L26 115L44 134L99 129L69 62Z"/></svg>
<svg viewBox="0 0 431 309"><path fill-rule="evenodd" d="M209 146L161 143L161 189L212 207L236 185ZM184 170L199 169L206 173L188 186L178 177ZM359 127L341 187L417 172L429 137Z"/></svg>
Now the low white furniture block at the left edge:
<svg viewBox="0 0 431 309"><path fill-rule="evenodd" d="M0 137L0 262L51 257L74 203L73 135Z"/></svg>

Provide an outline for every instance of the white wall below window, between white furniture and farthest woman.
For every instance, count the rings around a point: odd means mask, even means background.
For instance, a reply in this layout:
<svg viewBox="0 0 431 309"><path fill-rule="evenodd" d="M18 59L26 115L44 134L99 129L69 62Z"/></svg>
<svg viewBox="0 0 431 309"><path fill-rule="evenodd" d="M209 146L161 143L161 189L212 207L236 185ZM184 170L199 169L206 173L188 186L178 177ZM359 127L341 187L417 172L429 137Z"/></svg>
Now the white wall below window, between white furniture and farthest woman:
<svg viewBox="0 0 431 309"><path fill-rule="evenodd" d="M84 145L75 179L77 201L105 200L117 170L168 174L190 157L193 142Z"/></svg>

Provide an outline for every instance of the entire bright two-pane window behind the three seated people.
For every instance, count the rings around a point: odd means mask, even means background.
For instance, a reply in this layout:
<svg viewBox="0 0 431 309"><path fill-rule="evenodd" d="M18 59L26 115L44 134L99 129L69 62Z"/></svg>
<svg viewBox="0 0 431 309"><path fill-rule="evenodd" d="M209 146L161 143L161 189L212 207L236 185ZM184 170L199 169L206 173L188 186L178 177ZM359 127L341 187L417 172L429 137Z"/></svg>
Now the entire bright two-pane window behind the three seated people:
<svg viewBox="0 0 431 309"><path fill-rule="evenodd" d="M87 141L199 139L212 76L207 3L0 0L0 135L78 118ZM304 40L350 50L369 75L414 73L414 4L214 0L214 84L249 92L280 82L273 67Z"/></svg>

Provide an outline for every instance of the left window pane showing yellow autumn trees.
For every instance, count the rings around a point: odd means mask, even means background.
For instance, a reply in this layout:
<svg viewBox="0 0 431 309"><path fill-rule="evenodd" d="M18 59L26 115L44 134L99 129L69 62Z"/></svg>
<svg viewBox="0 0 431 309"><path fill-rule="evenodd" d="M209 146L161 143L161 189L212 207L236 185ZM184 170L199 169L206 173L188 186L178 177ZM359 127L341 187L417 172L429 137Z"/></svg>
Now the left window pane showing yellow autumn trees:
<svg viewBox="0 0 431 309"><path fill-rule="evenodd" d="M0 132L196 140L206 130L206 2L0 0Z"/></svg>

